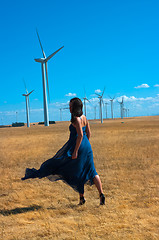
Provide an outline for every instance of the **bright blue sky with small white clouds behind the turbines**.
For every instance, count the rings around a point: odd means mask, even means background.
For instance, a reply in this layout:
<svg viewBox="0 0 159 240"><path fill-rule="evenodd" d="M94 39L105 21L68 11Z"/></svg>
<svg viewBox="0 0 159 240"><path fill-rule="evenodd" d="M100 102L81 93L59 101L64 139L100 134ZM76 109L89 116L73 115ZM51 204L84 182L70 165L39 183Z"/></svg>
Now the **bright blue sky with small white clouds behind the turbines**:
<svg viewBox="0 0 159 240"><path fill-rule="evenodd" d="M94 106L99 108L94 93L104 87L108 117L109 95L116 96L115 117L122 96L130 116L159 114L158 11L157 0L1 1L0 125L26 122L23 79L28 91L35 89L30 121L43 121L41 66L34 61L42 57L36 28L47 56L64 45L48 62L50 120L60 120L59 108L75 94L83 98L84 88L90 119ZM69 118L63 110L62 119Z"/></svg>

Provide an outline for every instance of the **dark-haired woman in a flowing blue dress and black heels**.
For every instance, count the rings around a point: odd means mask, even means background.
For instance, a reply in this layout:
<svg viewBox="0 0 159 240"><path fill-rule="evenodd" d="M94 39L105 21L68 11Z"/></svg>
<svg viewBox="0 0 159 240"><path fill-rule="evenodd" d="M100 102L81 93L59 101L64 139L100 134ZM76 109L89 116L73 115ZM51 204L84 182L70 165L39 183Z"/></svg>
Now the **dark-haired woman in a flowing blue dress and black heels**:
<svg viewBox="0 0 159 240"><path fill-rule="evenodd" d="M75 191L79 192L80 202L85 203L84 184L95 184L100 195L100 204L105 204L105 196L102 190L100 178L93 162L93 152L89 143L90 127L83 115L83 104L79 98L70 100L71 125L70 138L56 155L45 161L39 170L26 169L25 177L43 178L51 181L63 180Z"/></svg>

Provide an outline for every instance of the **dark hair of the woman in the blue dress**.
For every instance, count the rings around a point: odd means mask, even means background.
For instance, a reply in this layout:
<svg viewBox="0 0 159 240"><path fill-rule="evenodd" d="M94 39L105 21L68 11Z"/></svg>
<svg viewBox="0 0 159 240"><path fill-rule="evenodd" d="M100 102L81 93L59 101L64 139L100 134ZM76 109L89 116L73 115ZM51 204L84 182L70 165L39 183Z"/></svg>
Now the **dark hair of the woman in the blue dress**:
<svg viewBox="0 0 159 240"><path fill-rule="evenodd" d="M72 103L71 122L74 123L76 121L76 117L80 117L83 114L83 103L79 98L72 98L70 103Z"/></svg>

